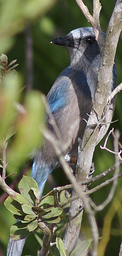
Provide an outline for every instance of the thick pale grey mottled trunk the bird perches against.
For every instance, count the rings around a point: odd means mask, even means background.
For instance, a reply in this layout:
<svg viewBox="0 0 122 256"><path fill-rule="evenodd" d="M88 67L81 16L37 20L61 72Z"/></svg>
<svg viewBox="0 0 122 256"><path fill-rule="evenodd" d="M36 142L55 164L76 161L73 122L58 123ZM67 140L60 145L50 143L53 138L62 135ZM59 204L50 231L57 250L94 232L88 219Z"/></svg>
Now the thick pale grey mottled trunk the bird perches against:
<svg viewBox="0 0 122 256"><path fill-rule="evenodd" d="M79 5L85 17L92 24L92 26L94 26L95 20L89 14L88 8L83 4L82 1L76 0L76 2ZM95 27L97 29L97 26ZM98 119L101 118L101 116L103 115L104 109L106 107L109 85L111 81L111 75L112 75L112 69L113 69L113 63L114 63L114 57L115 57L115 52L116 52L121 28L122 28L122 2L118 0L115 5L114 11L111 16L111 20L109 22L109 26L106 32L105 44L102 50L101 62L98 70L97 84L96 84L96 90L95 90L95 95L93 100L93 109L89 116L88 124L86 126L86 129L82 138L82 142L80 143L80 146L79 146L79 154L78 154L77 168L76 168L77 180L85 180L88 177L88 173L90 171L90 167L92 164L92 157L95 150L96 140L99 132L98 126L93 131L93 124L95 123L95 120L96 120L96 123L98 122ZM101 33L99 33L99 36L100 35ZM95 33L95 36L96 36L96 33ZM100 39L100 42L102 42L101 40L102 39ZM100 45L102 47L103 42L99 44L99 47ZM95 109L97 109L97 111L95 111ZM73 196L74 196L74 193L73 193ZM75 209L77 209L78 206L79 206L79 200L77 201L77 204L75 203ZM68 242L68 240L69 241L73 240L72 244L75 246L76 239L80 231L80 229L77 229L72 239L72 232L74 232L74 225L73 225L74 219L75 219L75 222L77 223L77 214L74 218L73 207L74 207L74 203L71 203L70 211L69 211L70 225L69 224L67 225L67 229L64 237L65 247L68 253L67 255L69 255L70 252L72 252L72 245L71 243ZM85 208L85 205L84 205L84 208ZM95 223L93 223L90 217L91 216L89 215L89 222L91 225L91 231L93 236L92 255L96 256L97 244L98 244L98 231Z"/></svg>

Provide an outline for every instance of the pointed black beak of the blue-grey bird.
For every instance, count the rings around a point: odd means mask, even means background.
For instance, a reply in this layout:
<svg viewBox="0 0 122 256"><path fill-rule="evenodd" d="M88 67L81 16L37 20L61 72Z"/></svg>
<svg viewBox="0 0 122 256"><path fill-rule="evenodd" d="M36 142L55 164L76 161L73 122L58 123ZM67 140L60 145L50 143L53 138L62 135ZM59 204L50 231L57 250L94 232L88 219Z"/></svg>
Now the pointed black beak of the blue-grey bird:
<svg viewBox="0 0 122 256"><path fill-rule="evenodd" d="M63 45L63 46L74 46L74 40L73 38L69 36L63 36L58 37L50 42L50 44L57 44L57 45Z"/></svg>

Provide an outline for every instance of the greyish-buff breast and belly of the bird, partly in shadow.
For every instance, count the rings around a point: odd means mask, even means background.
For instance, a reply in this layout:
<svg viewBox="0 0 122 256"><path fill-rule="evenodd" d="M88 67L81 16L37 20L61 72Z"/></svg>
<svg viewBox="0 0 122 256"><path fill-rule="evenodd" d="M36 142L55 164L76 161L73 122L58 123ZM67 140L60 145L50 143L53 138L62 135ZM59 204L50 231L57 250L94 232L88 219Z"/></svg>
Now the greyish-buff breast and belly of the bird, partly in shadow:
<svg viewBox="0 0 122 256"><path fill-rule="evenodd" d="M88 115L92 108L92 94L88 78L81 72L69 75L70 83L65 88L65 106L54 113L57 126L66 143L72 138L72 144L82 138ZM94 85L95 86L95 85Z"/></svg>

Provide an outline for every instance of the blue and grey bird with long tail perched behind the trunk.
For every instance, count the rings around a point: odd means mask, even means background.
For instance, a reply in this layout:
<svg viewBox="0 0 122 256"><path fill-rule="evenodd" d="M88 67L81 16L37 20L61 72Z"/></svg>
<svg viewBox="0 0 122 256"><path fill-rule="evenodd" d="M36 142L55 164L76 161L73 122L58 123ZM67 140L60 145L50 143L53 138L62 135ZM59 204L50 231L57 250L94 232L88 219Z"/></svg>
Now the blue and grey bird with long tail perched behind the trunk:
<svg viewBox="0 0 122 256"><path fill-rule="evenodd" d="M105 34L103 33L103 36ZM78 155L78 138L82 139L86 120L91 112L93 98L97 82L97 72L100 63L100 49L97 44L92 27L76 28L66 36L58 37L51 41L52 44L66 46L70 53L70 65L65 68L57 77L47 95L51 113L53 114L57 127L64 143L72 137L72 145L66 152L71 156ZM109 93L116 87L116 67L113 63ZM112 120L116 97L109 105L106 113L106 125L99 129L96 145L107 132ZM53 126L47 120L47 126L55 135ZM77 125L75 125L77 123ZM72 135L69 133L70 127ZM34 152L34 161L31 177L36 180L40 198L49 174L59 165L55 150L48 141L45 141L42 148ZM7 256L21 256L25 239L12 241L10 238L7 247Z"/></svg>

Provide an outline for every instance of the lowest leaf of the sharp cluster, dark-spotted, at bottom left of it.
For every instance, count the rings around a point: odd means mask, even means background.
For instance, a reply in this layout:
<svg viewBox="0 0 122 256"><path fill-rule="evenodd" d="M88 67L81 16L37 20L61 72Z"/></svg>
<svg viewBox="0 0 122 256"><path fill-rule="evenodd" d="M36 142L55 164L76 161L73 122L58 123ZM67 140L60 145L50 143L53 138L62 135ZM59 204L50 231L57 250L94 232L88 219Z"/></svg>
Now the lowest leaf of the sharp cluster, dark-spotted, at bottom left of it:
<svg viewBox="0 0 122 256"><path fill-rule="evenodd" d="M19 221L13 224L10 228L10 236L14 241L23 239L29 235L30 232L27 230L27 223Z"/></svg>

